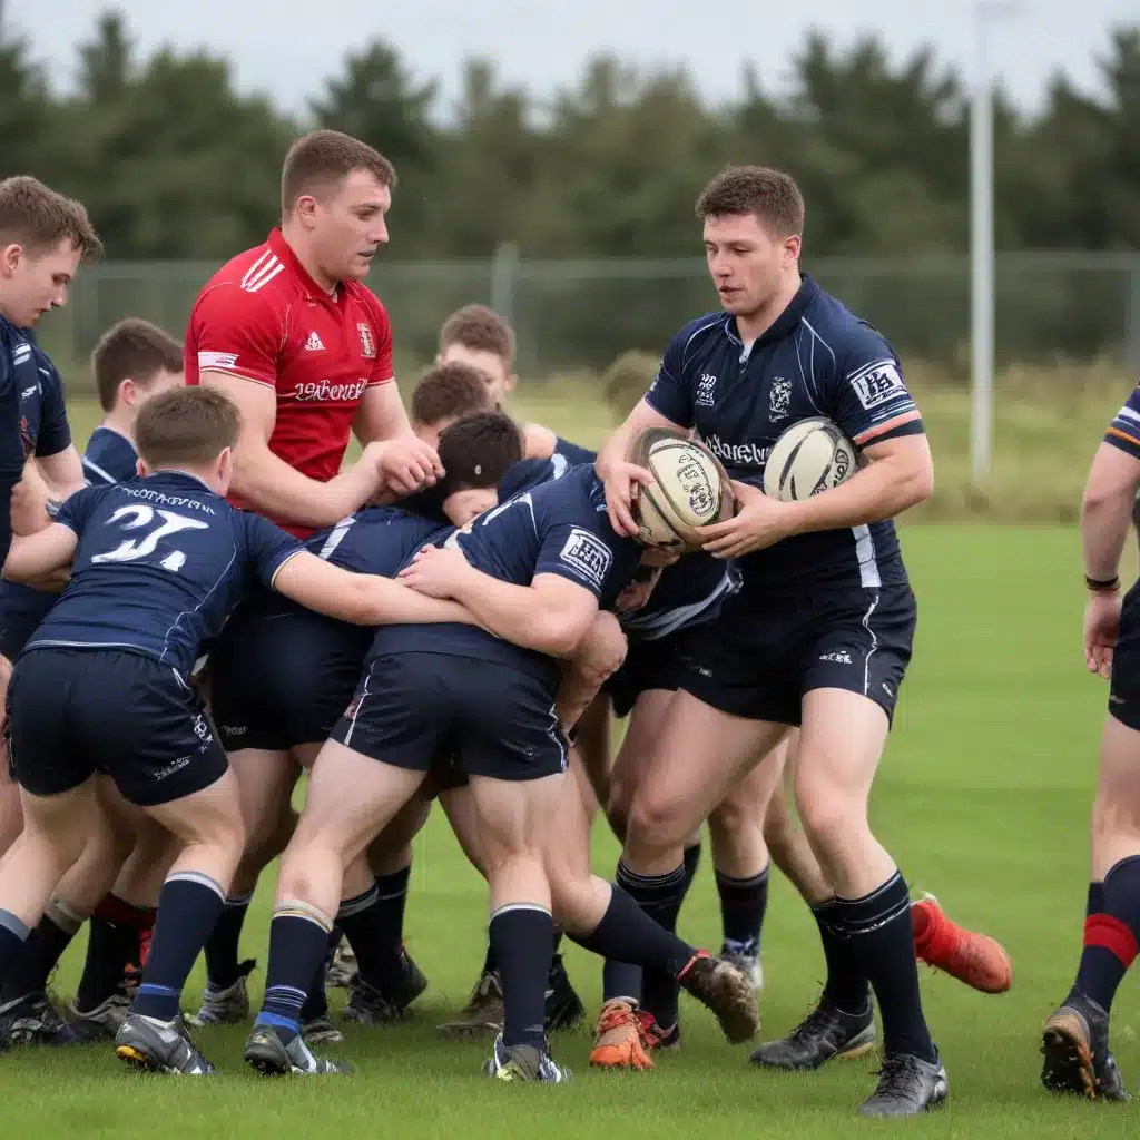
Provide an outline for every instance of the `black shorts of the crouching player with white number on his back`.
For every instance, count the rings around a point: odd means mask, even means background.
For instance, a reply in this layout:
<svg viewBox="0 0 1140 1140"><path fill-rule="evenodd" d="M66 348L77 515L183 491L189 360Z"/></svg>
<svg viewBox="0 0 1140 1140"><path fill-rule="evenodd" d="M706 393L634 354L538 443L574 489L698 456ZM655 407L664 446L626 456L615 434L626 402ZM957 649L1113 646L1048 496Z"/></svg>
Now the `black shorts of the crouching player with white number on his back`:
<svg viewBox="0 0 1140 1140"><path fill-rule="evenodd" d="M8 686L11 765L33 796L96 772L139 807L182 799L228 762L197 694L169 665L119 650L33 649Z"/></svg>

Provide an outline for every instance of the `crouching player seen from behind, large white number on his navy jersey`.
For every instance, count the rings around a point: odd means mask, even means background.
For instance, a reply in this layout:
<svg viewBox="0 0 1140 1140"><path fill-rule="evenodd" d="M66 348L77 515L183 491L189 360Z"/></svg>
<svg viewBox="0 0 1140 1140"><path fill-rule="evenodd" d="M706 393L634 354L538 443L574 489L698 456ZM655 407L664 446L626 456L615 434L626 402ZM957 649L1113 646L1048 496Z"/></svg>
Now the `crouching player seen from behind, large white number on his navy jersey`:
<svg viewBox="0 0 1140 1140"><path fill-rule="evenodd" d="M120 1057L158 1072L211 1072L181 1032L178 1001L243 846L234 777L186 682L203 643L255 580L360 625L463 612L333 567L229 506L238 429L236 408L217 392L155 397L137 424L145 478L76 492L57 522L14 545L5 567L16 580L74 569L9 689L25 828L0 868L0 984L83 850L99 811L97 779L109 775L184 845L116 1035Z"/></svg>

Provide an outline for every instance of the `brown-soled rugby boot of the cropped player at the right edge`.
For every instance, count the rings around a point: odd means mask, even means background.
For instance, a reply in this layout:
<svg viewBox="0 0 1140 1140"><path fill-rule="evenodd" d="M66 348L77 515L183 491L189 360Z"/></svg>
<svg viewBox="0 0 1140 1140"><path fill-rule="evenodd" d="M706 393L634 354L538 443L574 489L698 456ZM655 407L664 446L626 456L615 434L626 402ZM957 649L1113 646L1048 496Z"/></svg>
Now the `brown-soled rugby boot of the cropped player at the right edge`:
<svg viewBox="0 0 1140 1140"><path fill-rule="evenodd" d="M1090 997L1070 997L1045 1021L1041 1083L1089 1100L1131 1100L1108 1051L1108 1013Z"/></svg>

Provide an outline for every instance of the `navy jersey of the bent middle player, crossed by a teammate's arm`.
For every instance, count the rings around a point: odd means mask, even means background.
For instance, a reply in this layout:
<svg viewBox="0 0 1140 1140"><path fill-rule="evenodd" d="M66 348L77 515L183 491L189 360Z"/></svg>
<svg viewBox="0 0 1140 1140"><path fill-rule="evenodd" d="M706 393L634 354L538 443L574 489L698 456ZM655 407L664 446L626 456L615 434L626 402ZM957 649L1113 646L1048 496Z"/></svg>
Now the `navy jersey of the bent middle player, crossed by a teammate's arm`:
<svg viewBox="0 0 1140 1140"><path fill-rule="evenodd" d="M561 479L506 499L456 531L448 543L492 578L529 586L538 575L554 573L588 589L602 609L613 609L642 551L632 538L614 534L605 513L605 492L592 466L573 467ZM559 675L554 659L475 626L384 626L372 648L373 656L416 651L537 669L555 684Z"/></svg>

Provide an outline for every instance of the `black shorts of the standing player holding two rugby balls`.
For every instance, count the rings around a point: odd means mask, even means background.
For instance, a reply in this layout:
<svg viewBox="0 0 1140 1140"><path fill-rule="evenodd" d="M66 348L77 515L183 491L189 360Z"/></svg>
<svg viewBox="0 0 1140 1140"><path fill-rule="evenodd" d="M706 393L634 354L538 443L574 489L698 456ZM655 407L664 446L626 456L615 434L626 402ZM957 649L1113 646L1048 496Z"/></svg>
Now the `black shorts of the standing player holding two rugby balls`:
<svg viewBox="0 0 1140 1140"><path fill-rule="evenodd" d="M894 716L918 610L910 586L803 598L730 597L694 630L682 687L723 712L798 725L813 689L862 693Z"/></svg>

